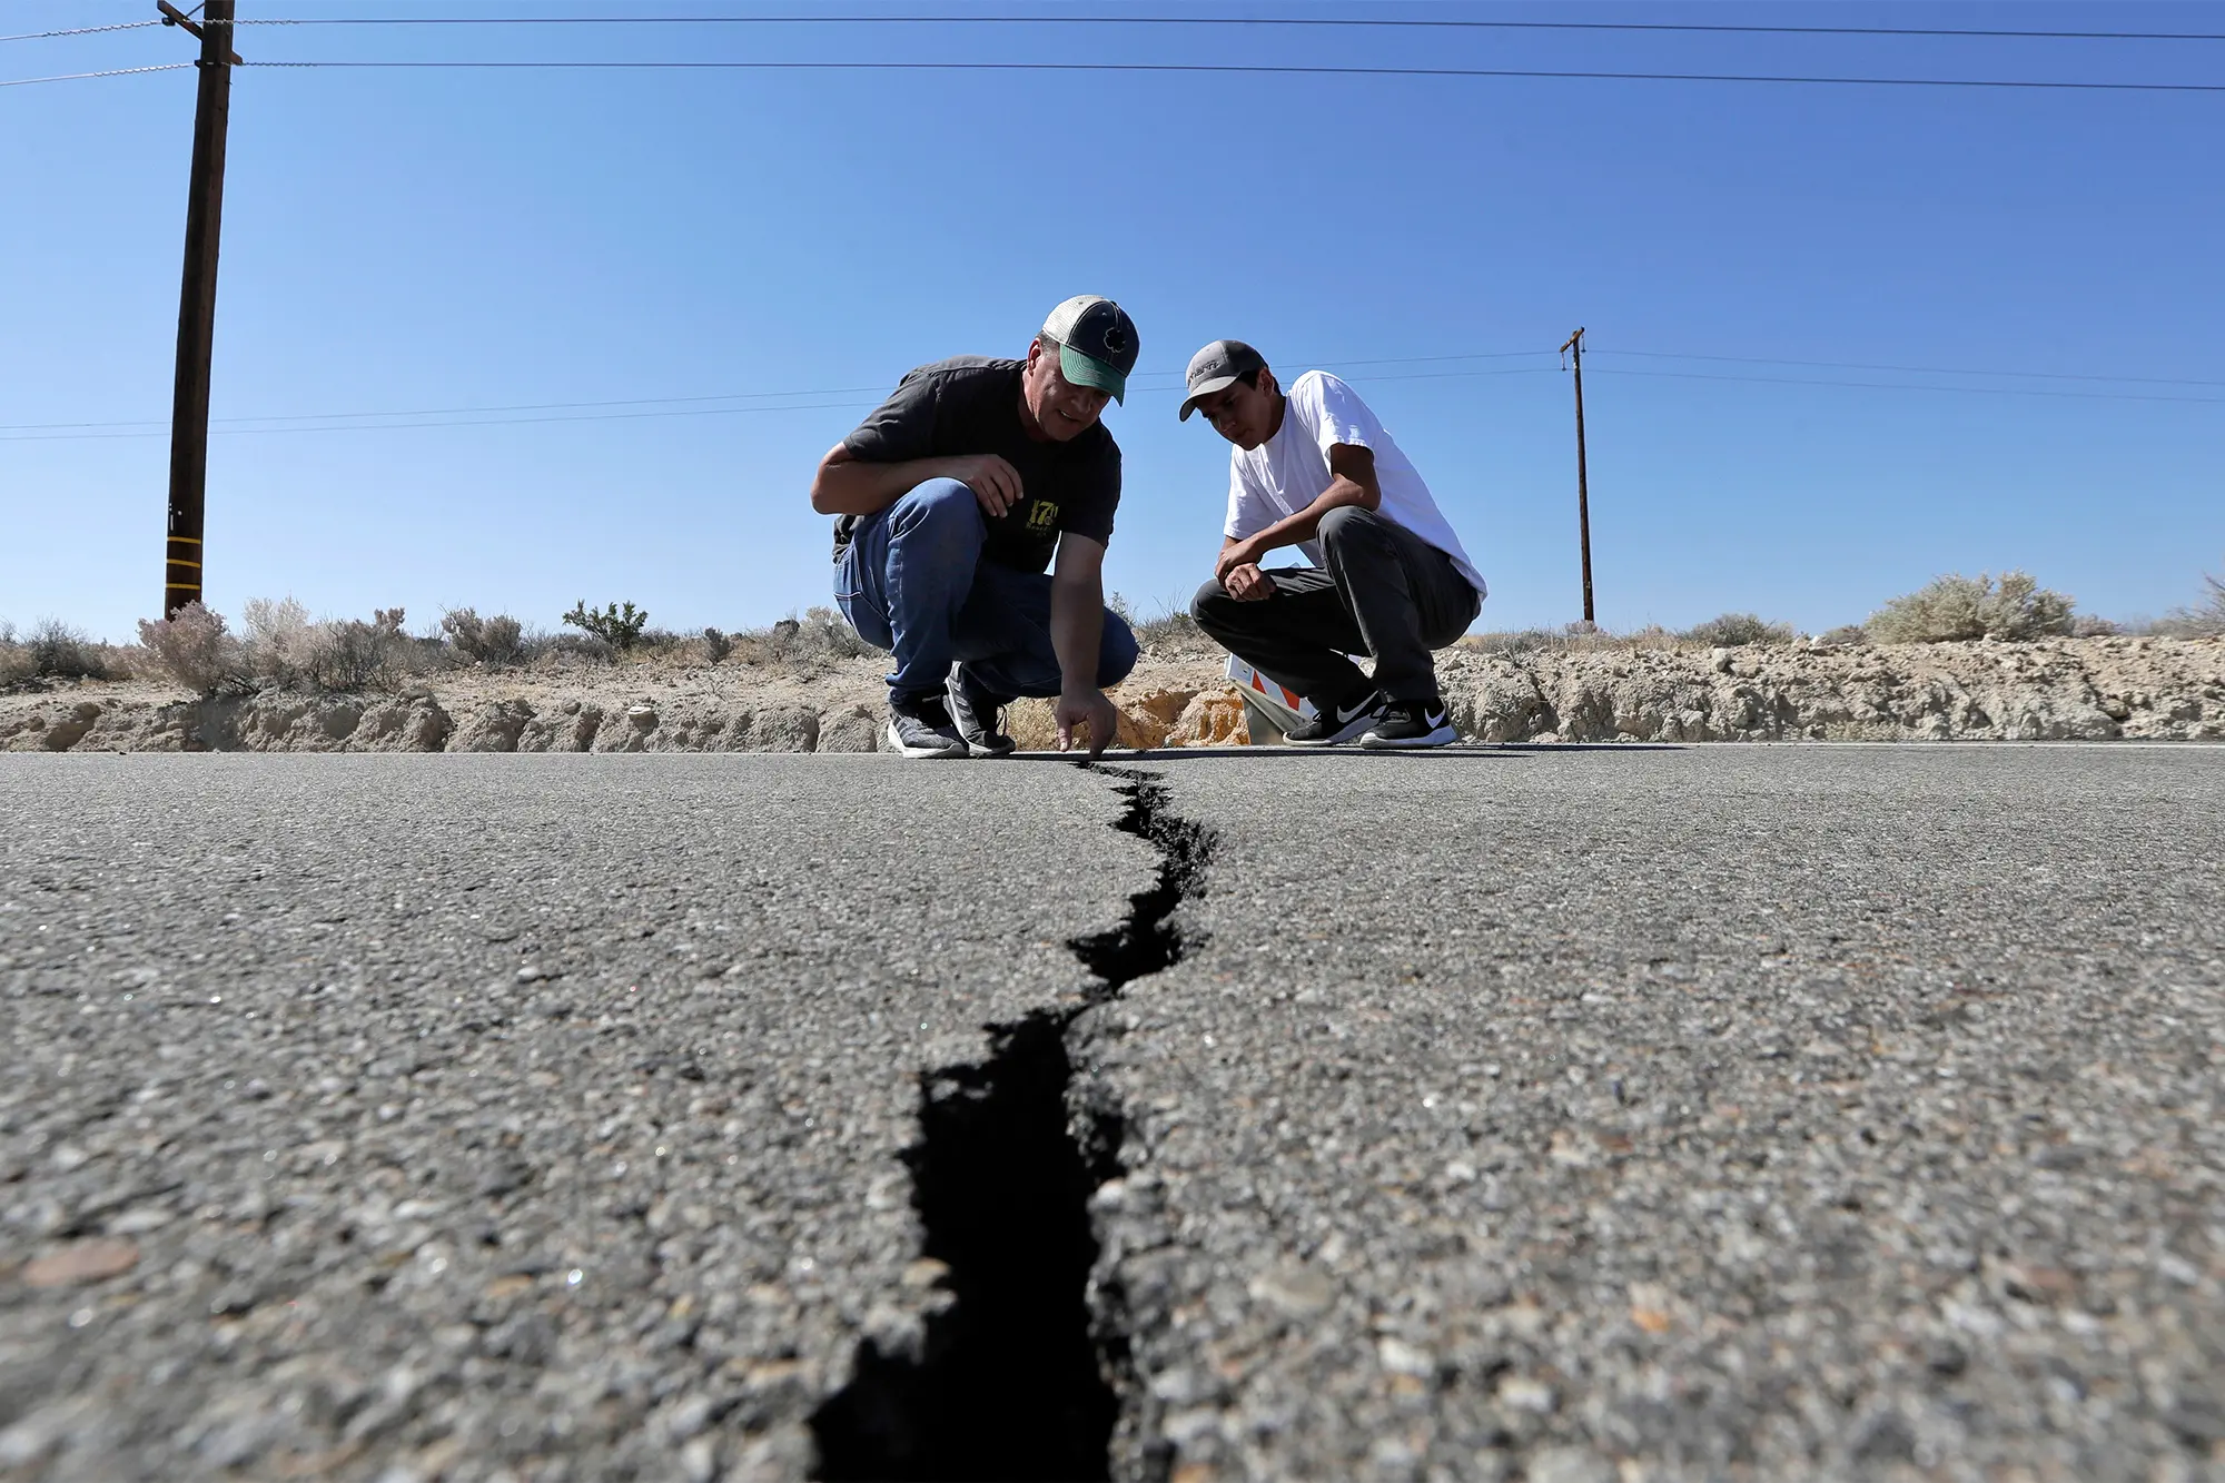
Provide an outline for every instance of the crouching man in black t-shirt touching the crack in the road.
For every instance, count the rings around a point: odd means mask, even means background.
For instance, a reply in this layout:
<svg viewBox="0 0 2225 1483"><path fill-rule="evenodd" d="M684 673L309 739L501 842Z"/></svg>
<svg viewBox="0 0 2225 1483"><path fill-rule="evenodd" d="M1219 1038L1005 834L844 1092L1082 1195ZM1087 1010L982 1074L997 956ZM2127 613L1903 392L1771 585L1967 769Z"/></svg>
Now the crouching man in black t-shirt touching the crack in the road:
<svg viewBox="0 0 2225 1483"><path fill-rule="evenodd" d="M1135 370L1135 323L1068 298L1026 361L959 356L910 372L812 479L834 523L834 599L892 650L888 739L906 757L1001 757L999 710L1057 695L1059 748L1112 739L1104 688L1135 635L1104 606L1119 445L1097 421ZM1048 574L1046 574L1046 568Z"/></svg>

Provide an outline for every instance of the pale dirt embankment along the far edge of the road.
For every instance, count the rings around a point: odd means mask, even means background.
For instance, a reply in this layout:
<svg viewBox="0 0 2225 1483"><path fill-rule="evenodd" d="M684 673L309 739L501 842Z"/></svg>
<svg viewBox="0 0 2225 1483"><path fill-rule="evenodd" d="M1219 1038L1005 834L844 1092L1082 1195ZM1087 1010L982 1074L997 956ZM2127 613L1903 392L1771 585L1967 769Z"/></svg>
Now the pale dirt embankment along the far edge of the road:
<svg viewBox="0 0 2225 1483"><path fill-rule="evenodd" d="M866 753L881 739L881 668L461 670L405 695L205 701L151 681L58 681L0 695L0 750ZM1480 742L2225 739L2225 639L1462 646L1440 679ZM1248 742L1217 657L1146 655L1115 699L1126 746ZM1048 701L1024 701L1010 726L1048 746Z"/></svg>

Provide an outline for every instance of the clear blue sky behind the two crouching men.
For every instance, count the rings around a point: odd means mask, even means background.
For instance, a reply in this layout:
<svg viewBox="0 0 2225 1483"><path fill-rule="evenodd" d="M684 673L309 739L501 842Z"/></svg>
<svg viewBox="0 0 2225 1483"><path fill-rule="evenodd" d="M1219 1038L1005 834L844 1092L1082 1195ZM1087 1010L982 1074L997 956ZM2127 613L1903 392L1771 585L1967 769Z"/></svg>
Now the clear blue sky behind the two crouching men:
<svg viewBox="0 0 2225 1483"><path fill-rule="evenodd" d="M0 33L147 13L0 0ZM2225 4L2129 2L1210 13L2225 31ZM2225 42L1604 31L243 27L238 47L2225 82ZM4 42L0 78L185 56L158 27ZM191 111L191 71L0 89L0 617L18 626L125 637L156 606ZM1604 623L1758 610L1820 630L1938 572L2011 566L2080 610L2152 615L2225 570L2221 129L2225 94L249 69L214 416L305 421L218 423L209 601L556 628L585 597L672 628L772 621L828 601L805 490L877 390L921 361L1019 354L1052 303L1099 292L1135 314L1153 372L1108 416L1126 452L1108 586L1146 612L1210 570L1226 497L1226 445L1175 421L1170 387L1197 345L1239 336L1375 405L1491 581L1480 628L1580 617L1553 350L1586 325ZM407 416L541 403L639 405ZM405 416L316 421L374 412Z"/></svg>

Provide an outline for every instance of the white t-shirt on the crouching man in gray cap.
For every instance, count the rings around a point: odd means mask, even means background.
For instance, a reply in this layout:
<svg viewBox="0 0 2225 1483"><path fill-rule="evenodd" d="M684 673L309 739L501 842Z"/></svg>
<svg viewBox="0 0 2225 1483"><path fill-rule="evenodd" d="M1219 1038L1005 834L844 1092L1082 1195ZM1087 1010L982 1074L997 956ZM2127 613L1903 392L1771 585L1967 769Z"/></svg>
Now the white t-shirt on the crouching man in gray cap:
<svg viewBox="0 0 2225 1483"><path fill-rule="evenodd" d="M1228 523L1222 534L1242 541L1311 505L1335 479L1328 472L1328 450L1351 443L1375 454L1375 485L1384 497L1377 512L1451 557L1482 595L1482 572L1460 548L1460 537L1444 521L1422 474L1368 412L1368 403L1328 372L1306 372L1290 383L1286 396L1275 436L1253 450L1228 450ZM1319 541L1302 541L1299 550L1313 566L1326 566Z"/></svg>

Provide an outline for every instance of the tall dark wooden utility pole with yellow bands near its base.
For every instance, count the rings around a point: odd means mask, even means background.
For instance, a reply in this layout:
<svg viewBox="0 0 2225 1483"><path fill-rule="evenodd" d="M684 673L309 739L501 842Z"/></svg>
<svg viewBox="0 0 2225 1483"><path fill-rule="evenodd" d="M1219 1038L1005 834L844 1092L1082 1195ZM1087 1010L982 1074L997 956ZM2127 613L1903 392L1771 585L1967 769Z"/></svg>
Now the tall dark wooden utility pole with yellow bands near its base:
<svg viewBox="0 0 2225 1483"><path fill-rule="evenodd" d="M169 546L162 617L200 601L200 530L209 488L209 359L216 350L216 247L225 223L225 131L231 122L234 0L205 0L200 22L156 0L162 24L200 40L194 98L194 180L185 203L185 283L178 289L178 392L169 410Z"/></svg>

